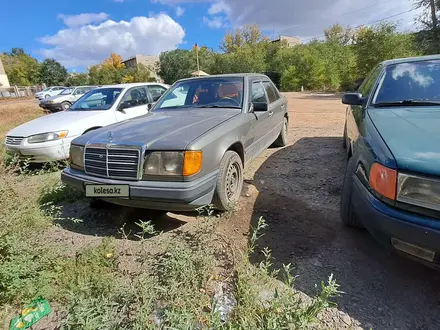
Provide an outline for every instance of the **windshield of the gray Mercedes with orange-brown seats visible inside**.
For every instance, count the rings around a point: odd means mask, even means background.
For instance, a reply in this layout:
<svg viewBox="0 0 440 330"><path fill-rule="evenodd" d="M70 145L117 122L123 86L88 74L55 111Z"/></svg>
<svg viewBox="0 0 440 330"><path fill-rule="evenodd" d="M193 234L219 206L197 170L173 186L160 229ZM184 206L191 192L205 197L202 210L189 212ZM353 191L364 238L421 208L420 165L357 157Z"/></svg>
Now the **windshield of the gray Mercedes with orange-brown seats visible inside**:
<svg viewBox="0 0 440 330"><path fill-rule="evenodd" d="M155 110L236 108L243 103L243 78L200 78L175 84L154 107Z"/></svg>

